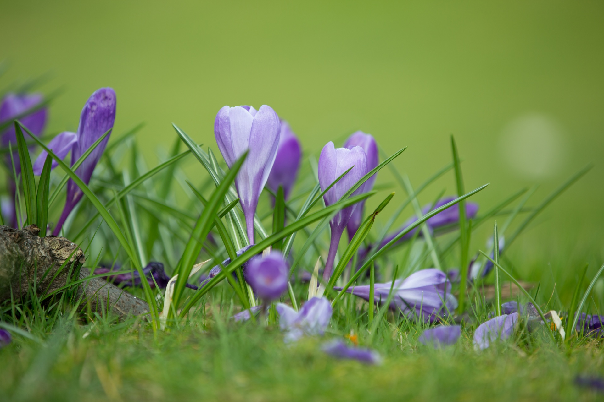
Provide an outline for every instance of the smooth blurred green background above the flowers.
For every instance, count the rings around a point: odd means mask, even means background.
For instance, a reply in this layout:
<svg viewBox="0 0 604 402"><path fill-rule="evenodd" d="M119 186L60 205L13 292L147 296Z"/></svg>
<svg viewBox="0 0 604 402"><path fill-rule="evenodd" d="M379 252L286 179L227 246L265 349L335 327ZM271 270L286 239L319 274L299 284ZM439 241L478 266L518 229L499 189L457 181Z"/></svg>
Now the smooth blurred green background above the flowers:
<svg viewBox="0 0 604 402"><path fill-rule="evenodd" d="M396 165L416 185L451 161L454 134L466 189L491 183L476 198L486 206L540 183L536 204L593 162L515 247L538 245L541 260L577 245L604 257L601 1L2 0L1 10L4 83L50 71L45 92L65 85L48 132L75 130L88 96L111 86L114 133L146 122L138 143L153 165L171 122L216 149L220 107L268 104L307 152L355 130L387 152L408 145Z"/></svg>

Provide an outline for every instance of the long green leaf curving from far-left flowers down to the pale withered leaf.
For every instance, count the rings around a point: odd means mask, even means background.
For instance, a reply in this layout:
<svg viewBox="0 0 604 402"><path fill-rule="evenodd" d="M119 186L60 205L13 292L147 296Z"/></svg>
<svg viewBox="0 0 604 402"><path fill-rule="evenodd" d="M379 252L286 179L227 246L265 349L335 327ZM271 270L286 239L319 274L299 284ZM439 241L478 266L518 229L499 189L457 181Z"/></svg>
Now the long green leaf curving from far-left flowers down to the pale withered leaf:
<svg viewBox="0 0 604 402"><path fill-rule="evenodd" d="M21 123L19 123L19 125L21 125ZM31 138L34 141L36 141L38 143L38 145L40 147L42 147L42 149L47 151L48 154L51 155L51 157L53 157L53 159L56 160L57 163L59 163L59 166L61 167L61 169L63 169L63 171L65 171L65 173L67 175L69 175L69 178L71 178L71 180L73 180L74 183L76 183L76 185L78 187L80 187L80 190L82 190L84 195L86 195L86 198L88 198L89 201L92 203L92 205L97 209L98 213L100 213L100 215L103 217L103 219L106 222L106 224L108 225L108 227L111 229L115 238L118 240L118 242L120 242L121 247L124 249L124 251L126 251L126 254L130 258L130 261L132 261L132 264L137 269L140 277L144 278L145 275L143 272L143 267L140 266L140 262L138 261L136 254L132 251L130 244L127 242L126 237L124 237L124 234L121 232L120 227L118 226L117 222L115 222L115 219L111 216L109 211L103 206L103 204L97 198L97 196L94 195L94 193L91 191L91 189L89 189L89 187L86 186L86 184L77 176L77 174L74 171L72 171L69 168L69 166L67 166L65 164L65 162L63 162L63 160L61 160L57 155L55 155L54 152L51 151L51 149L49 149L46 145L44 145L42 143L42 141L37 139L36 136L31 134L30 131L27 130L27 128L24 127L24 130L28 134L30 134ZM141 283L143 283L143 291L144 291L145 297L147 298L147 303L149 304L149 309L151 310L152 326L153 326L153 331L155 331L156 328L158 328L158 325L156 325L156 324L157 324L159 318L158 318L158 313L157 313L157 307L155 306L155 301L153 299L153 292L151 291L149 282L141 280Z"/></svg>

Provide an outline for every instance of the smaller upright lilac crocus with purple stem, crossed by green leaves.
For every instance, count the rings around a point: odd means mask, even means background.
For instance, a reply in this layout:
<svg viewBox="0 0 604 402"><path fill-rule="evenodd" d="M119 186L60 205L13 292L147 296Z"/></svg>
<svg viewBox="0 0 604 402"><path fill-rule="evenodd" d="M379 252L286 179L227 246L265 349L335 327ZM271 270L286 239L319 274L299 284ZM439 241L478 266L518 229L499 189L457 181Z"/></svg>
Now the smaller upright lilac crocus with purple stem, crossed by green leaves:
<svg viewBox="0 0 604 402"><path fill-rule="evenodd" d="M323 196L326 206L336 203L342 195L350 190L350 187L354 186L367 173L367 155L360 146L354 146L352 149L334 148L333 142L330 141L323 147L318 166L321 190L325 190L336 178L350 168L352 170ZM361 192L362 186L356 189L353 195L360 194ZM332 275L333 260L338 251L339 240L356 207L358 207L358 204L340 210L329 222L332 229L332 239L329 245L325 270L323 271L324 280L329 280L329 277Z"/></svg>

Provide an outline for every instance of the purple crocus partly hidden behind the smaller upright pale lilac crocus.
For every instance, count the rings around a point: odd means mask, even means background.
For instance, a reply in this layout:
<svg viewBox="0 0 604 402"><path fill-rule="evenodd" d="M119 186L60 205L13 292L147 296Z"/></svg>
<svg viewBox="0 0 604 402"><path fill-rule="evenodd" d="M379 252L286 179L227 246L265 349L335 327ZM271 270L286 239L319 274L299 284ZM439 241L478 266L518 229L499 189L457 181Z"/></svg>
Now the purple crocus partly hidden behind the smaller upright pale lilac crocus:
<svg viewBox="0 0 604 402"><path fill-rule="evenodd" d="M357 131L352 134L346 142L344 143L344 148L352 149L355 146L360 146L365 151L367 155L367 172L376 168L379 163L379 156L377 155L377 143L371 134L365 134L362 131ZM361 193L366 193L373 189L373 184L376 181L377 173L371 176L370 178L363 183L361 186ZM348 231L349 240L355 236L357 230L359 230L359 226L361 226L361 222L363 219L363 210L365 209L365 200L361 201L357 204L355 210L352 212L348 224L346 225L346 230Z"/></svg>

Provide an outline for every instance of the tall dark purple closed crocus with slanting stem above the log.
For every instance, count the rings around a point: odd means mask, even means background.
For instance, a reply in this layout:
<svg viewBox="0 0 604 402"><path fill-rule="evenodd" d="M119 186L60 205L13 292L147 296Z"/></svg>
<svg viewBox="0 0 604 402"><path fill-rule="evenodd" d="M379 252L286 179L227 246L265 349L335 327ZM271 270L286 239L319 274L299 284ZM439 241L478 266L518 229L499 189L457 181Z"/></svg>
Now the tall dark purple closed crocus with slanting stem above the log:
<svg viewBox="0 0 604 402"><path fill-rule="evenodd" d="M74 143L71 149L72 166L99 137L113 128L115 121L115 101L115 91L112 88L97 89L86 101L80 115L80 125L77 128L77 142ZM92 172L101 159L108 141L109 136L106 136L97 148L88 155L82 165L76 169L76 174L84 183L88 184L90 182ZM67 182L65 207L63 208L59 222L57 222L53 230L54 236L59 235L65 219L67 219L69 213L82 199L83 195L84 193L80 190L80 187L73 180L69 179Z"/></svg>

